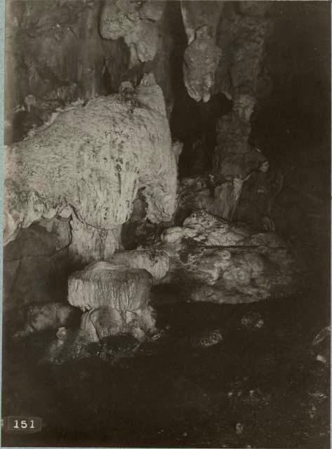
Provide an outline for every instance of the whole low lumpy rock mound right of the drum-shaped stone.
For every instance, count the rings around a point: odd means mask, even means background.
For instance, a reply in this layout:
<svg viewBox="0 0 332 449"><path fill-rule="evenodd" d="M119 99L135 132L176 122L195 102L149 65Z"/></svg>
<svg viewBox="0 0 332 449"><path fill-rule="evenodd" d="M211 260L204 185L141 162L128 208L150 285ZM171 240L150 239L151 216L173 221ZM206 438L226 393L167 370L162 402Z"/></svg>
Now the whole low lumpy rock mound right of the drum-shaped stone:
<svg viewBox="0 0 332 449"><path fill-rule="evenodd" d="M170 257L164 283L179 283L193 301L237 304L284 297L299 288L300 268L274 232L256 233L200 210L161 235Z"/></svg>

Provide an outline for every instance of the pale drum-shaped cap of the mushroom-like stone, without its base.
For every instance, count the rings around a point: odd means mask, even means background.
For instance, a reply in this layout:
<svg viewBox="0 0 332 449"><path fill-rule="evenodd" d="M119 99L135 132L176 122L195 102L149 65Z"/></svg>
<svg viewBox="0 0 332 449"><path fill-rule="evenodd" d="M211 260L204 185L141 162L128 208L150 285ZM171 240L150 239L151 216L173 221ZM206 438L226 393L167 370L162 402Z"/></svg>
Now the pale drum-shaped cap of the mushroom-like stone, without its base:
<svg viewBox="0 0 332 449"><path fill-rule="evenodd" d="M151 287L145 269L93 262L69 276L68 301L84 311L107 306L129 316L147 307Z"/></svg>

